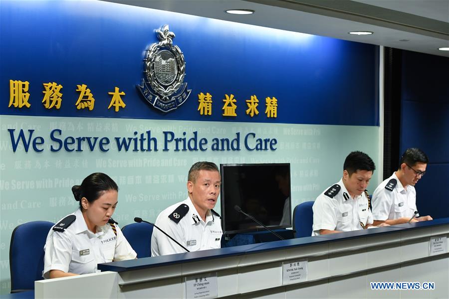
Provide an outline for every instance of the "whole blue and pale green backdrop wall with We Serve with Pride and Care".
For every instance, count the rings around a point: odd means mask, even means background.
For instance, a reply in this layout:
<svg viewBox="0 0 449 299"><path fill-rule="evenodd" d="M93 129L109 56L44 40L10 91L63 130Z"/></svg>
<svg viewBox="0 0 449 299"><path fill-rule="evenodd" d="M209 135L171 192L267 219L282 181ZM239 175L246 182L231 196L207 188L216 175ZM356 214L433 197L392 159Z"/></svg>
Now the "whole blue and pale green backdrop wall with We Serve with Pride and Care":
<svg viewBox="0 0 449 299"><path fill-rule="evenodd" d="M190 91L169 112L138 88L165 24L183 58L161 68L184 60ZM198 160L290 162L293 206L337 182L350 151L378 163L378 52L104 1L0 1L1 293L13 228L73 212L92 172L117 181L123 226L184 200Z"/></svg>

